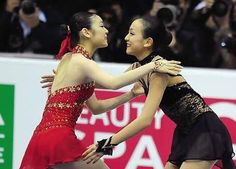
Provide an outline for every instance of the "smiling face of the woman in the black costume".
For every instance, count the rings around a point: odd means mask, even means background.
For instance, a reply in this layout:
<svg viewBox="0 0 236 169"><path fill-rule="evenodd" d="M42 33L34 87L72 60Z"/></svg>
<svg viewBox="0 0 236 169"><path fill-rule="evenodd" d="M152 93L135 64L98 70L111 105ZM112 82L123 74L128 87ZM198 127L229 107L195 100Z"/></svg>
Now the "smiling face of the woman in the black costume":
<svg viewBox="0 0 236 169"><path fill-rule="evenodd" d="M127 43L126 53L140 58L146 52L146 39L143 38L143 22L142 19L136 19L132 22L129 32L125 37Z"/></svg>

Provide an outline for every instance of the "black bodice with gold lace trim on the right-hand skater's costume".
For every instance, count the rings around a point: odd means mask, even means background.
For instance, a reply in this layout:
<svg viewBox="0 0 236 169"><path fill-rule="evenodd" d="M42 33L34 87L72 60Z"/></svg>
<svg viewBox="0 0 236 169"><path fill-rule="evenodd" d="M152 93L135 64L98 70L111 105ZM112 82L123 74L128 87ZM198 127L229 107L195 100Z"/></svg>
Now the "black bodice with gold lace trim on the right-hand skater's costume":
<svg viewBox="0 0 236 169"><path fill-rule="evenodd" d="M153 58L150 55L144 60L134 63L132 69L151 62ZM140 79L146 95L149 92L151 74L152 72ZM213 112L203 98L186 81L165 89L160 108L178 127L184 130L189 129L202 113Z"/></svg>

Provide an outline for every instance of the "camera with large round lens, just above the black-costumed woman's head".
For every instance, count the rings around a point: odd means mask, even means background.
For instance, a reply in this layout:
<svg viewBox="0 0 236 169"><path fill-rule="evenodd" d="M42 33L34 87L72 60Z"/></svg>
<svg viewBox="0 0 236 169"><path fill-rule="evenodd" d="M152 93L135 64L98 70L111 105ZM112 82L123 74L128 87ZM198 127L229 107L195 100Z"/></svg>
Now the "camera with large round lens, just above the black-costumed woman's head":
<svg viewBox="0 0 236 169"><path fill-rule="evenodd" d="M180 9L172 4L164 5L157 12L158 19L162 20L166 27L175 26L177 18L180 15Z"/></svg>

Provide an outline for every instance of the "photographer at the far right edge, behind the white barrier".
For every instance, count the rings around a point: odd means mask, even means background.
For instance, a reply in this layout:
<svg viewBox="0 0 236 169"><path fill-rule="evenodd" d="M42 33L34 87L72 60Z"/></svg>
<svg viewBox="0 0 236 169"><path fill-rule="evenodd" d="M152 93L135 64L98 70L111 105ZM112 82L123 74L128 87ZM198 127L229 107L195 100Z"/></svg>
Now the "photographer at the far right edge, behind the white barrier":
<svg viewBox="0 0 236 169"><path fill-rule="evenodd" d="M236 68L236 1L223 17L212 16L217 51L214 62L220 68Z"/></svg>

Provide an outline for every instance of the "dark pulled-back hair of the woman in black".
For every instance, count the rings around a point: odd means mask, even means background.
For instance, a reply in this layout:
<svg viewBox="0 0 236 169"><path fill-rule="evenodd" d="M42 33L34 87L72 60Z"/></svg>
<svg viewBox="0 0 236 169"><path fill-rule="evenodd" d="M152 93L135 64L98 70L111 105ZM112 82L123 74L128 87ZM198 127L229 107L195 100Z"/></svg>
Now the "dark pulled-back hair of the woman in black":
<svg viewBox="0 0 236 169"><path fill-rule="evenodd" d="M156 17L144 16L143 37L153 39L153 50L167 47L172 41L172 34L166 29L164 23Z"/></svg>

